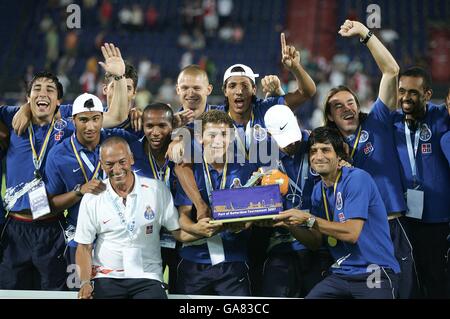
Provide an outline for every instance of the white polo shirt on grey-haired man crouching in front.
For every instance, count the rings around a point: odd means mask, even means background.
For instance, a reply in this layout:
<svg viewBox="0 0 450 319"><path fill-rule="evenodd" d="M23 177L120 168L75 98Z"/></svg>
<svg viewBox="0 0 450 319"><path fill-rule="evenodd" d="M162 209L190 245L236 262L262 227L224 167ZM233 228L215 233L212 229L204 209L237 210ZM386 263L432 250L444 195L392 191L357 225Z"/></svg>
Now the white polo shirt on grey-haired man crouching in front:
<svg viewBox="0 0 450 319"><path fill-rule="evenodd" d="M161 226L169 231L180 228L178 211L163 182L134 176L134 188L127 196L126 206L109 179L104 181L106 191L100 195L84 195L75 241L92 244L96 240L94 278L148 278L162 282L159 231Z"/></svg>

